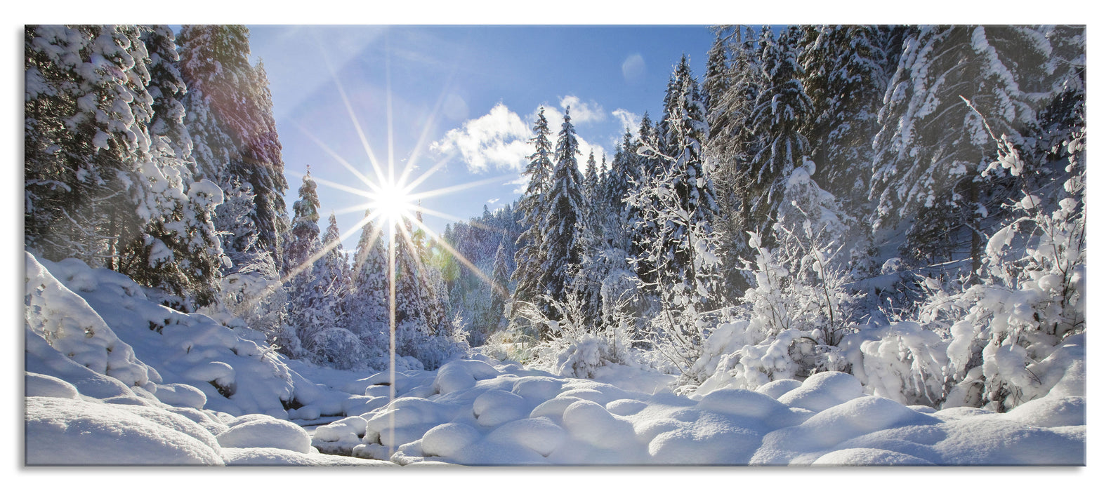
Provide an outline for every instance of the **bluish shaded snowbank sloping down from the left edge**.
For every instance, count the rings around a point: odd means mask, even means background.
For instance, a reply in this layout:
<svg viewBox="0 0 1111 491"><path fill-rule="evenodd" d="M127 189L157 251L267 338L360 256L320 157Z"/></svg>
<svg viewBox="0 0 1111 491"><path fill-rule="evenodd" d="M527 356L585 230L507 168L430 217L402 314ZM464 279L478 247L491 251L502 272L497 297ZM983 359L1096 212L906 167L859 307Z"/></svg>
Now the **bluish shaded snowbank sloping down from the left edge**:
<svg viewBox="0 0 1111 491"><path fill-rule="evenodd" d="M27 370L83 395L280 419L290 405L340 414L351 398L291 370L253 332L247 339L208 315L161 305L120 273L73 259L24 259Z"/></svg>

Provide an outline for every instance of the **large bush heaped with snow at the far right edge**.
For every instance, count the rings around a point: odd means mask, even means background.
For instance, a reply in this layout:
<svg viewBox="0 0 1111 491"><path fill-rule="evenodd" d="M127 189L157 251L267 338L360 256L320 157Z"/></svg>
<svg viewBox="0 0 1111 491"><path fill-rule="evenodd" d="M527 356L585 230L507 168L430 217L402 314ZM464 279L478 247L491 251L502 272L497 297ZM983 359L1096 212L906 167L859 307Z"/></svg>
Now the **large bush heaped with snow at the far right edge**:
<svg viewBox="0 0 1111 491"><path fill-rule="evenodd" d="M1013 216L987 241L978 281L921 278L928 298L908 315L915 322L861 343L857 374L874 393L1008 411L1060 380L1047 373L1065 363L1058 360L1068 358L1065 340L1085 331L1084 140L1081 130L1060 143L1064 173L1052 190L1035 191L1017 147L997 138L984 177L1001 169L1018 178L1021 198L1005 206Z"/></svg>

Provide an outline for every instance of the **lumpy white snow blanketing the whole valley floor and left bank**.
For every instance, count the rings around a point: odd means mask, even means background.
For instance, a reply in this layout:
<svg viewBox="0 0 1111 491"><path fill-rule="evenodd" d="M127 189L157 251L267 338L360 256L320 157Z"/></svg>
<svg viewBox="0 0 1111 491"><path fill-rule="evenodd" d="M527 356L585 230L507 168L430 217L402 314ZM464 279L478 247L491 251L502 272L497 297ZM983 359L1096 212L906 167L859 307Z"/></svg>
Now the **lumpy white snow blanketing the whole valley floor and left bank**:
<svg viewBox="0 0 1111 491"><path fill-rule="evenodd" d="M27 254L24 279L27 464L1090 460L1082 369L1008 413L907 407L869 395L855 378L838 372L689 398L655 391L659 374L628 368L585 380L480 355L391 380L389 373L368 377L287 360L263 349L251 331L161 307L127 278L78 261ZM1082 344L1084 337L1072 342ZM316 427L310 434L302 425Z"/></svg>

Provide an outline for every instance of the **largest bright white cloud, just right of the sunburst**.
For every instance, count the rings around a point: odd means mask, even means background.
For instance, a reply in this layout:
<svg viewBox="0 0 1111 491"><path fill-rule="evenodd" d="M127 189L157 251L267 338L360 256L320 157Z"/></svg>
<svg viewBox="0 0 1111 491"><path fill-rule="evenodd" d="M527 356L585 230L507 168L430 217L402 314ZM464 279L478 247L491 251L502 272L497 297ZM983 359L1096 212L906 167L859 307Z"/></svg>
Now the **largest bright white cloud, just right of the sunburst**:
<svg viewBox="0 0 1111 491"><path fill-rule="evenodd" d="M479 119L463 122L448 131L432 150L447 154L459 152L471 172L493 169L521 170L532 154L532 131L516 112L498 103Z"/></svg>

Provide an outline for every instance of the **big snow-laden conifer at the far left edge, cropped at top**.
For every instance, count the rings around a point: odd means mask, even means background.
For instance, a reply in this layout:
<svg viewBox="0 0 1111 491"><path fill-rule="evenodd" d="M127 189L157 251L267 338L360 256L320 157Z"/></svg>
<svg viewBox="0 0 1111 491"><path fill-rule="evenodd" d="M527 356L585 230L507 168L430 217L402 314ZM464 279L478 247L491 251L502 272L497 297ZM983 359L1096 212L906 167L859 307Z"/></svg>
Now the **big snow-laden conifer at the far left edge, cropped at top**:
<svg viewBox="0 0 1111 491"><path fill-rule="evenodd" d="M140 29L27 26L24 247L50 260L118 269L140 239L150 160L150 74Z"/></svg>

